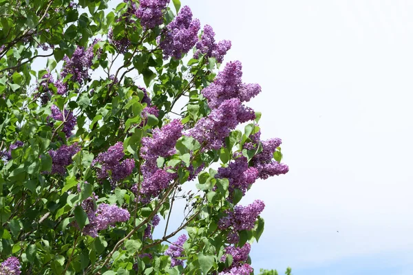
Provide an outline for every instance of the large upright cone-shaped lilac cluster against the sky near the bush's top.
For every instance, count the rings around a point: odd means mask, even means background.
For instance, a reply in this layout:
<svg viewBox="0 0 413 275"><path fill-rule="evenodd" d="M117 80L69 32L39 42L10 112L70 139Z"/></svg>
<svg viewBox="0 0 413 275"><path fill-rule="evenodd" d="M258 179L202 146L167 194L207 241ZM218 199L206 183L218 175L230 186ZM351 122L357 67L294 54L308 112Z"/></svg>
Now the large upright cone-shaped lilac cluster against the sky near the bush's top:
<svg viewBox="0 0 413 275"><path fill-rule="evenodd" d="M200 21L192 20L191 9L185 5L173 19L160 39L159 47L163 50L164 58L169 56L181 58L193 48L198 41Z"/></svg>

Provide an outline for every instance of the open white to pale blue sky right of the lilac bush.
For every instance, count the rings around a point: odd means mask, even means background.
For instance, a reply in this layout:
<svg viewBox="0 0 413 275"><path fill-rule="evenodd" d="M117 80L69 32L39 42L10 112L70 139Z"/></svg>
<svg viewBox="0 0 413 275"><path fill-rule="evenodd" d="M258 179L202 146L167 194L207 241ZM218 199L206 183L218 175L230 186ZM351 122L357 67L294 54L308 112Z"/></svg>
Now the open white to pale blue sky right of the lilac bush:
<svg viewBox="0 0 413 275"><path fill-rule="evenodd" d="M412 2L181 1L233 42L263 137L283 140L290 172L242 201L266 203L253 267L413 274Z"/></svg>

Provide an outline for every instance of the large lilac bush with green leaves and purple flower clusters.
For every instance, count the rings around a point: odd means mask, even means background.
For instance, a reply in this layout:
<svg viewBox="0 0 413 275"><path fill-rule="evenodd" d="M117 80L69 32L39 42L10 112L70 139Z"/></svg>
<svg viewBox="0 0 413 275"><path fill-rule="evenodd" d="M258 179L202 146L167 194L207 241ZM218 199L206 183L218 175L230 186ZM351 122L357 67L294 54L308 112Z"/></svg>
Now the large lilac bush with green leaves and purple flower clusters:
<svg viewBox="0 0 413 275"><path fill-rule="evenodd" d="M260 86L179 0L107 2L0 0L0 273L251 273L264 203L238 203L288 172Z"/></svg>

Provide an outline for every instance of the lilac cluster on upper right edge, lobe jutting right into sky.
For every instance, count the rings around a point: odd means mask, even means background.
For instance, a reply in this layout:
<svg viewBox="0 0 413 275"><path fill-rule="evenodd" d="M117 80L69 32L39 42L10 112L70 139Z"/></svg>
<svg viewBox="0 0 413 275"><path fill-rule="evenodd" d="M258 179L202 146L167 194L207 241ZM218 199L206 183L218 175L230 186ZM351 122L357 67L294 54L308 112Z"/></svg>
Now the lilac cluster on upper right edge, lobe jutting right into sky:
<svg viewBox="0 0 413 275"><path fill-rule="evenodd" d="M202 94L208 99L208 105L215 109L224 100L239 98L241 102L251 100L260 94L261 87L258 84L242 83L242 65L240 61L227 63L222 72L209 87L202 90Z"/></svg>

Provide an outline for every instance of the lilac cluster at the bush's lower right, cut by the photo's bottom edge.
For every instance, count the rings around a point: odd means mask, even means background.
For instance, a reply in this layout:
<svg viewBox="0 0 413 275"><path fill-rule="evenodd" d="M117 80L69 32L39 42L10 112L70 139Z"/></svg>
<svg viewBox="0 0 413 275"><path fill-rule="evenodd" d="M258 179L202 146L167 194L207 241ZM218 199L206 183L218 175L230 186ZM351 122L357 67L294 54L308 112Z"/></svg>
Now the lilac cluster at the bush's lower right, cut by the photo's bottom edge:
<svg viewBox="0 0 413 275"><path fill-rule="evenodd" d="M225 248L226 254L222 256L221 261L226 260L226 256L230 254L233 256L233 263L231 267L220 272L220 275L250 275L253 272L253 268L245 263L248 259L248 254L251 251L251 245L249 243L244 244L242 248L235 248L235 246L228 246Z"/></svg>

